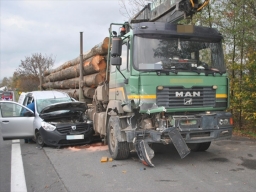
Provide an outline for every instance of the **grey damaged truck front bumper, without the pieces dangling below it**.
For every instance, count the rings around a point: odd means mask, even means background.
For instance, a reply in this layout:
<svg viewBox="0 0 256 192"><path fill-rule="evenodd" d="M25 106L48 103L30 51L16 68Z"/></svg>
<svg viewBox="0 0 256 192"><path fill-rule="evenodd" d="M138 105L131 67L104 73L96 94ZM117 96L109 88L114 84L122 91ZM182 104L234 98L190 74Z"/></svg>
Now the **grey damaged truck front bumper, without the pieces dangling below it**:
<svg viewBox="0 0 256 192"><path fill-rule="evenodd" d="M127 142L134 138L143 139L149 143L169 143L166 129L176 128L186 143L204 143L214 140L230 139L233 125L229 122L231 114L216 112L212 114L197 114L191 116L173 116L173 127L155 129L132 129L126 132Z"/></svg>

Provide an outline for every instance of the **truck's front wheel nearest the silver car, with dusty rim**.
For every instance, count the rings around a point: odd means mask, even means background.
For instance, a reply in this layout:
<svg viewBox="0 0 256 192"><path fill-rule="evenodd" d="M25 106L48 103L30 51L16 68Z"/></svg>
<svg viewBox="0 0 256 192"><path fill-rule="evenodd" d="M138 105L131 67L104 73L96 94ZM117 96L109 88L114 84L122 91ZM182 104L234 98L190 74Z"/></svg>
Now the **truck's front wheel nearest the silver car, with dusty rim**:
<svg viewBox="0 0 256 192"><path fill-rule="evenodd" d="M109 153L113 159L127 159L130 154L129 143L126 141L118 141L115 135L115 130L120 130L120 120L119 117L111 116L107 127Z"/></svg>

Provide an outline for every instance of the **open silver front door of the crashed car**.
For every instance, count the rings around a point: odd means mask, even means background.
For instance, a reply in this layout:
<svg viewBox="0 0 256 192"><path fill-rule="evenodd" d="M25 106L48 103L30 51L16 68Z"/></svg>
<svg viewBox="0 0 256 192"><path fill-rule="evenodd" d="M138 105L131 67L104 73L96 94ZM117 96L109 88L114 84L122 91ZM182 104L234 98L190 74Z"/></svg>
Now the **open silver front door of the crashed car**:
<svg viewBox="0 0 256 192"><path fill-rule="evenodd" d="M0 101L0 129L4 140L34 136L34 112L12 101Z"/></svg>

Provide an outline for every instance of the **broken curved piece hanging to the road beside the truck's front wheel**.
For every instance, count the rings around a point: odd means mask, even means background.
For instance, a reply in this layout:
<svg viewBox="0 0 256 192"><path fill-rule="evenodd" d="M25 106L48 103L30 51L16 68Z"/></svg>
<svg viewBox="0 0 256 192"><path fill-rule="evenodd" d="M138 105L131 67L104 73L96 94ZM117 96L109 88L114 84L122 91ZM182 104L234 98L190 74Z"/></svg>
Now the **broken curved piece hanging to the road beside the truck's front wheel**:
<svg viewBox="0 0 256 192"><path fill-rule="evenodd" d="M141 162L149 167L154 167L151 159L154 157L154 151L149 147L148 143L144 140L135 143L135 149Z"/></svg>

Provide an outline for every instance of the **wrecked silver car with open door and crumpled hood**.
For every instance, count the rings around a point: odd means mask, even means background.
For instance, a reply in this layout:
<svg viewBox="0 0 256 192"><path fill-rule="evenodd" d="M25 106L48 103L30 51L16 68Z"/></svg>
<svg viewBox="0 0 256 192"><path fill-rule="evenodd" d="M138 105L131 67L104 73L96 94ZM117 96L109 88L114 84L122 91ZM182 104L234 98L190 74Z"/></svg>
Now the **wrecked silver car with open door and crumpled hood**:
<svg viewBox="0 0 256 192"><path fill-rule="evenodd" d="M34 112L27 106L34 102ZM24 93L19 103L0 101L0 129L4 140L34 138L38 145L89 143L93 126L85 119L87 106L59 91Z"/></svg>

